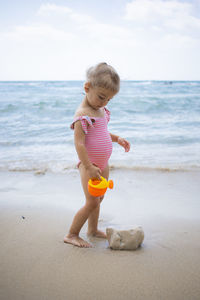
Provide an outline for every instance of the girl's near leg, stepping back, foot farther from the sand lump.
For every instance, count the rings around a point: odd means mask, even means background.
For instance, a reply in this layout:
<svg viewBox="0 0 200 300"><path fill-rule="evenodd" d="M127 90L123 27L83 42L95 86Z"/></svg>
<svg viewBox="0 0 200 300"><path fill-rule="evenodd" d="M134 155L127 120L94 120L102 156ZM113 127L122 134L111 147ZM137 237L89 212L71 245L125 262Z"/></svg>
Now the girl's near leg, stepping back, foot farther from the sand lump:
<svg viewBox="0 0 200 300"><path fill-rule="evenodd" d="M79 171L81 175L81 183L83 187L83 191L86 198L85 205L76 213L74 216L72 225L69 230L69 234L64 238L65 243L73 244L75 246L79 247L92 247L88 242L84 241L79 237L79 232L85 222L87 221L89 215L91 212L96 209L96 207L100 203L99 197L93 197L88 192L88 180L89 177L87 175L87 172L82 164L79 166Z"/></svg>

